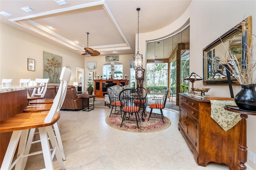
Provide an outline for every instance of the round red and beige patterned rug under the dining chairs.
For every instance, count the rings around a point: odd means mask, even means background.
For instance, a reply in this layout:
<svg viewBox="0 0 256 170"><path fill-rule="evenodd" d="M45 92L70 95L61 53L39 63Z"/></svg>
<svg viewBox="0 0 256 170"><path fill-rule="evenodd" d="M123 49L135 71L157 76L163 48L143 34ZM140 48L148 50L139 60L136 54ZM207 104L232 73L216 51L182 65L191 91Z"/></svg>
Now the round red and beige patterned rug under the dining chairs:
<svg viewBox="0 0 256 170"><path fill-rule="evenodd" d="M149 112L146 112L147 115L149 115ZM132 117L134 119L134 117ZM106 123L113 128L119 129L119 130L125 130L129 132L156 132L160 130L164 130L168 127L171 126L171 121L167 117L164 117L164 123L162 119L158 118L152 118L150 117L148 121L148 117L143 117L145 121L143 122L141 120L141 115L140 115L140 121L138 122L139 129L137 127L136 121L124 121L122 124L122 127L120 127L122 123L122 118L121 115L111 115L111 117L106 117Z"/></svg>

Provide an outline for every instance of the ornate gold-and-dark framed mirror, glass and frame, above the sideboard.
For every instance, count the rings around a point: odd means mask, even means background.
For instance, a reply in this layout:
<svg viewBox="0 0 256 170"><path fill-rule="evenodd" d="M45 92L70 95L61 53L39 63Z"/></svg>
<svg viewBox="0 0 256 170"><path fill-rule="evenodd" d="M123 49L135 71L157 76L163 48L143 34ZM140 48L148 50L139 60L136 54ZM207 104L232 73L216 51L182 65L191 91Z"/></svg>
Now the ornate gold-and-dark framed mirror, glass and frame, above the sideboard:
<svg viewBox="0 0 256 170"><path fill-rule="evenodd" d="M226 55L230 51L236 55L239 62L246 61L246 50L250 47L252 39L251 31L252 17L249 16L203 49L204 85L228 83L227 74L229 72L222 65L224 64L222 61L227 58ZM237 83L232 73L229 74L232 82Z"/></svg>

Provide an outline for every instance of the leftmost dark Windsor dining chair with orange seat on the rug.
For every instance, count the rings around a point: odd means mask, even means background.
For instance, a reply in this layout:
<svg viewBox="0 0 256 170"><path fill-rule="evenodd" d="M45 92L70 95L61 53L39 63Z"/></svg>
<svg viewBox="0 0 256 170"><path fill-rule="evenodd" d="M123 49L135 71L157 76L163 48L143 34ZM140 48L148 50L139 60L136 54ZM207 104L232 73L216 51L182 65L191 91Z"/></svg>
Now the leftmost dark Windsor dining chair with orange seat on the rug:
<svg viewBox="0 0 256 170"><path fill-rule="evenodd" d="M121 117L122 117L122 113L120 111L121 104L120 104L120 101L119 101L119 98L118 98L119 94L116 94L111 87L107 88L107 93L108 93L108 97L109 97L109 100L110 100L110 106L112 106L109 117L112 114L121 115ZM113 112L114 107L115 107L115 110ZM118 107L119 109L116 109L116 107Z"/></svg>

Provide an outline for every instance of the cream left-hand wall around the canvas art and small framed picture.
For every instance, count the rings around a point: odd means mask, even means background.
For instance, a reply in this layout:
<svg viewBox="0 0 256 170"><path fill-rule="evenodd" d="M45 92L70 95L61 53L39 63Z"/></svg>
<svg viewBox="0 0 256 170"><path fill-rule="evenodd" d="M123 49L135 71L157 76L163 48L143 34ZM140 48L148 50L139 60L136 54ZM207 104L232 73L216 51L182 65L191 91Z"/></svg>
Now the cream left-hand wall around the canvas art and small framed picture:
<svg viewBox="0 0 256 170"><path fill-rule="evenodd" d="M79 54L5 24L0 26L0 80L13 79L12 85L19 85L20 79L43 78L43 51L62 56L62 67L71 67L69 85L76 81L76 67L84 68L84 57ZM35 71L27 70L27 58L35 59Z"/></svg>

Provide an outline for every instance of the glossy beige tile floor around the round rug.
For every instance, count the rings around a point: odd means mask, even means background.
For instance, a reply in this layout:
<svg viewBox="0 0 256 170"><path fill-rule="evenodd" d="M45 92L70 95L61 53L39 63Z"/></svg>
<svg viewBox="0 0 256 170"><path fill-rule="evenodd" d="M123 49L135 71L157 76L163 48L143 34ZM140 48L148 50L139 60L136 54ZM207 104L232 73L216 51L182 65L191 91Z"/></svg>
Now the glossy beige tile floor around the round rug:
<svg viewBox="0 0 256 170"><path fill-rule="evenodd" d="M228 170L210 162L198 166L177 128L178 112L164 110L172 125L158 132L126 132L109 127L110 109L61 111L59 120L67 170ZM33 146L32 150L40 148ZM60 169L54 158L55 169ZM44 168L42 154L30 156L26 170Z"/></svg>

